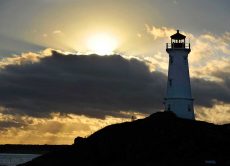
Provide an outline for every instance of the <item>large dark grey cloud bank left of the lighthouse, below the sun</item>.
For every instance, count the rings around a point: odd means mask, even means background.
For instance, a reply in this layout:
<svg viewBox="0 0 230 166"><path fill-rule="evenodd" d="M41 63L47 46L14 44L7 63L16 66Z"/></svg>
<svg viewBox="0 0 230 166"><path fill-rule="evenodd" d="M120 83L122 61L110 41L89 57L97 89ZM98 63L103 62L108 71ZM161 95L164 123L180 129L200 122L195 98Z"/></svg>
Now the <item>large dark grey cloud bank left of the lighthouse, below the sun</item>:
<svg viewBox="0 0 230 166"><path fill-rule="evenodd" d="M39 63L10 65L0 72L0 104L32 116L51 112L103 118L120 111L162 108L166 77L121 56L62 55Z"/></svg>

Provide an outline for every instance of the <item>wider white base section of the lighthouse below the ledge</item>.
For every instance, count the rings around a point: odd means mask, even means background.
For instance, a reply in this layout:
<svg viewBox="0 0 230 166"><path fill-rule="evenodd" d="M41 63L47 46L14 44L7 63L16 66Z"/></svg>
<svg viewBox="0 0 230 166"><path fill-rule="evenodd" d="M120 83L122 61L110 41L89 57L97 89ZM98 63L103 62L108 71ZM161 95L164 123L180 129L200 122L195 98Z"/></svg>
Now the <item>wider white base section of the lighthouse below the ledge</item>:
<svg viewBox="0 0 230 166"><path fill-rule="evenodd" d="M165 111L171 111L177 117L195 120L193 99L186 98L166 98Z"/></svg>

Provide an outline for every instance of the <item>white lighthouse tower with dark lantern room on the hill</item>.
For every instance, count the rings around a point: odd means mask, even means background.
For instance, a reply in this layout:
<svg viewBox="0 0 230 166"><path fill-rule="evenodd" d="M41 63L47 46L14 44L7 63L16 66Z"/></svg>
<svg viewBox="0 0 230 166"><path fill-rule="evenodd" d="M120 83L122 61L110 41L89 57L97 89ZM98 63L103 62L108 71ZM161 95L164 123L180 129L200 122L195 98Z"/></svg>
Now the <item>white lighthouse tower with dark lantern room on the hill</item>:
<svg viewBox="0 0 230 166"><path fill-rule="evenodd" d="M164 104L165 111L172 111L181 118L195 119L188 65L191 49L185 38L186 36L177 30L177 33L171 36L171 43L166 45L169 68Z"/></svg>

